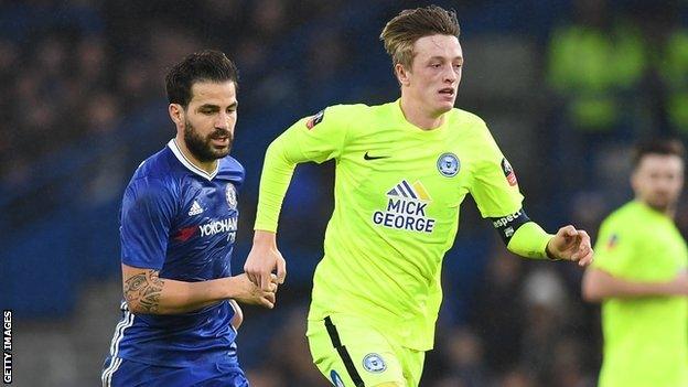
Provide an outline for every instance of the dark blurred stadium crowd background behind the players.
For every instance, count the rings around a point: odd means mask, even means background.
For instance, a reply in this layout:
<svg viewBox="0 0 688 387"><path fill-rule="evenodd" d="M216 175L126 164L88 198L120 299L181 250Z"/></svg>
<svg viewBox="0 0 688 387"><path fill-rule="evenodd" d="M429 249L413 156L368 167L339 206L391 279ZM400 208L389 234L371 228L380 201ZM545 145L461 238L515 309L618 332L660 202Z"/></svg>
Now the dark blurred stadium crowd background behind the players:
<svg viewBox="0 0 688 387"><path fill-rule="evenodd" d="M119 318L121 193L173 136L166 66L205 47L239 66L239 272L267 144L327 105L395 99L377 36L399 10L428 3L0 1L0 305L14 311L14 385L99 383ZM487 121L549 230L572 222L594 235L631 197L630 146L688 136L685 1L433 3L462 26L458 106ZM326 385L303 334L332 171L298 170L279 238L287 283L275 311L246 308L239 358L255 387ZM581 270L517 259L472 203L462 216L422 386L593 386L599 310L580 299ZM687 208L677 222L688 230Z"/></svg>

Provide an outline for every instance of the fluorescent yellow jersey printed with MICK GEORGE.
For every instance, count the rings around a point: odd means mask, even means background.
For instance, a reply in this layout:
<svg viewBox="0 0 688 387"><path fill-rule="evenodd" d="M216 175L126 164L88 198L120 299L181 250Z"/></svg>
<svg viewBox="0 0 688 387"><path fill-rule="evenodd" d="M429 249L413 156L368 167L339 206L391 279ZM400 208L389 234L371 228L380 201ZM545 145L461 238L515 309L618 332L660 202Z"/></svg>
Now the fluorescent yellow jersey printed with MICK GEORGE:
<svg viewBox="0 0 688 387"><path fill-rule="evenodd" d="M359 316L401 345L432 348L440 271L471 194L484 217L522 207L514 172L477 116L452 109L421 130L399 101L340 105L304 118L266 155L256 229L277 229L297 163L336 161L335 205L309 319Z"/></svg>

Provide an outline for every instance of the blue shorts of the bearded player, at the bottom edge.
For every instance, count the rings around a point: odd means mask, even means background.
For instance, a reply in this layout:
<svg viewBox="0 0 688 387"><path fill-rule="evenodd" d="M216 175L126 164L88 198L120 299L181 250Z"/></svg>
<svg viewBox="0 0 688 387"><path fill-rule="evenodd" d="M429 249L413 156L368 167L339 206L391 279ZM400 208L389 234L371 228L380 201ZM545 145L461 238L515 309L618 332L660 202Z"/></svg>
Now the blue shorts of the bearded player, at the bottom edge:
<svg viewBox="0 0 688 387"><path fill-rule="evenodd" d="M112 363L116 363L114 366ZM118 364L117 364L118 363ZM223 386L248 387L236 363L201 363L193 367L155 366L108 356L103 365L103 387L135 386Z"/></svg>

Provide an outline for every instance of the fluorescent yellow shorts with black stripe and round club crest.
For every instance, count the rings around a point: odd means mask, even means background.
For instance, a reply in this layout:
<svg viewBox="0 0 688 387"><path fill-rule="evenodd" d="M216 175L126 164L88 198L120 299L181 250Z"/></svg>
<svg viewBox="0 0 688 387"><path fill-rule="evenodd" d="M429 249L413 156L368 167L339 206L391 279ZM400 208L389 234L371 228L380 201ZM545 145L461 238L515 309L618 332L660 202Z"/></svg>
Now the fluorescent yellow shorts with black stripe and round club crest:
<svg viewBox="0 0 688 387"><path fill-rule="evenodd" d="M313 363L336 387L417 387L420 381L426 353L398 345L357 318L309 320L307 336Z"/></svg>

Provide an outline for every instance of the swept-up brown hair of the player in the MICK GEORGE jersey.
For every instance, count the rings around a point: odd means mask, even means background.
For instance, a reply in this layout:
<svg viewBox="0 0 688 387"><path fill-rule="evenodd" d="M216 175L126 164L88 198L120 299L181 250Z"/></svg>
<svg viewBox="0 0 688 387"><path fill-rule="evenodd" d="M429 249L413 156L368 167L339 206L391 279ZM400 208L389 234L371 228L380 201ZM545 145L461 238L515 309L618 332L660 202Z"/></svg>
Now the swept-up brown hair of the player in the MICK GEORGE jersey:
<svg viewBox="0 0 688 387"><path fill-rule="evenodd" d="M385 42L385 50L391 56L393 66L400 63L405 68L410 68L415 55L413 43L417 40L434 34L459 37L460 32L456 12L429 6L399 12L387 22L380 40Z"/></svg>

